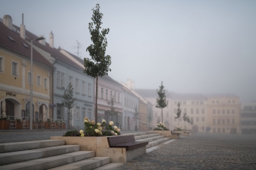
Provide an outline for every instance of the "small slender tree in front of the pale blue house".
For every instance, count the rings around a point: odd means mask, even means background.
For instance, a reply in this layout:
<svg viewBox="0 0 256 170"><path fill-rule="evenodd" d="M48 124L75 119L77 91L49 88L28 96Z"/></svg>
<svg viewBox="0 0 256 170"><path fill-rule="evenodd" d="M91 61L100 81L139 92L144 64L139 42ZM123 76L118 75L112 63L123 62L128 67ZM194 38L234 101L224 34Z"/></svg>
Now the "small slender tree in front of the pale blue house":
<svg viewBox="0 0 256 170"><path fill-rule="evenodd" d="M68 108L68 116L70 117L70 110L71 110L71 108L73 108L74 107L74 105L76 105L75 103L74 103L74 100L76 100L76 98L73 98L73 90L74 90L74 88L72 88L72 84L71 83L69 83L68 84L68 88L66 88L65 89L65 91L64 91L64 95L63 95L63 98L64 98L64 100L62 100L62 105L63 106L65 106L66 108ZM71 119L69 119L69 124L68 124L68 129L70 129L70 120Z"/></svg>

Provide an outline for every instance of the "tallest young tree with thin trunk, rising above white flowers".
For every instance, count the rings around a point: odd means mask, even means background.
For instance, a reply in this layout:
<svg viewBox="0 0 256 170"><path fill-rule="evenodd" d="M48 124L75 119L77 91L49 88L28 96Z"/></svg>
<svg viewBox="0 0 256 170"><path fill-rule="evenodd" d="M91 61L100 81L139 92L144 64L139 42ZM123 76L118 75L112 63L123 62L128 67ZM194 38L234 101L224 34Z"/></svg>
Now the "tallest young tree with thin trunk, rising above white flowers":
<svg viewBox="0 0 256 170"><path fill-rule="evenodd" d="M105 37L109 33L109 28L101 30L101 19L103 14L99 12L99 4L96 5L95 9L93 8L93 15L91 20L93 22L89 23L89 30L91 34L91 44L87 47L86 51L89 51L90 58L84 58L84 73L94 77L96 79L96 95L95 95L95 122L97 122L97 96L98 96L98 77L106 75L111 69L109 68L111 64L111 56L105 55L107 48L107 38ZM93 24L95 28L93 28Z"/></svg>

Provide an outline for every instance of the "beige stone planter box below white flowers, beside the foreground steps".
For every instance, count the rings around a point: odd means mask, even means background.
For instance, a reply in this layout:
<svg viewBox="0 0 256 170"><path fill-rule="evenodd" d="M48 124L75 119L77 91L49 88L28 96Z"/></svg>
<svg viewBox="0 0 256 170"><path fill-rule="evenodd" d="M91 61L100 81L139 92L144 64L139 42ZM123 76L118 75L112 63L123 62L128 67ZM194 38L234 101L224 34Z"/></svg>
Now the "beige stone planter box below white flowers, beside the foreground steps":
<svg viewBox="0 0 256 170"><path fill-rule="evenodd" d="M94 151L95 156L110 157L113 163L126 163L146 153L146 146L126 150L126 148L109 148L107 137L51 137L65 140L67 145L80 145L80 150Z"/></svg>

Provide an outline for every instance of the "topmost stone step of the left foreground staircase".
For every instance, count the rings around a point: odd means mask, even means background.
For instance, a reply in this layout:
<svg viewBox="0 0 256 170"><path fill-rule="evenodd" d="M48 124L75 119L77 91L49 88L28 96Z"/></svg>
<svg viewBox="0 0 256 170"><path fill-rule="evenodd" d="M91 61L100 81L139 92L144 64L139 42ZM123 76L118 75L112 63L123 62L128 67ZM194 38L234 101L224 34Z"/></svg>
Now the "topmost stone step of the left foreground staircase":
<svg viewBox="0 0 256 170"><path fill-rule="evenodd" d="M37 148L47 148L51 146L64 145L65 140L35 140L27 142L12 142L0 144L0 153L15 152L19 150L32 150Z"/></svg>

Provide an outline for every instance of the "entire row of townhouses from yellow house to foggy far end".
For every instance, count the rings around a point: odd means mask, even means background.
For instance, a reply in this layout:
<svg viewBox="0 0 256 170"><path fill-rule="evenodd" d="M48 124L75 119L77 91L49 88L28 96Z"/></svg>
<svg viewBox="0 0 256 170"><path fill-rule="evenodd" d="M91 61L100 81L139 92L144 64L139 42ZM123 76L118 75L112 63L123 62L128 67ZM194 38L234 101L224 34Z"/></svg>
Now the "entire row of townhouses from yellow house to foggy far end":
<svg viewBox="0 0 256 170"><path fill-rule="evenodd" d="M11 16L0 20L0 108L11 119L30 117L30 56L31 40L38 38L26 30L24 24L13 25ZM44 37L40 35L39 37ZM52 121L62 119L73 127L84 127L84 117L94 119L95 79L84 74L84 60L59 47L54 47L54 34L33 43L33 101L32 119L43 119L43 114ZM75 106L69 120L67 108L62 106L64 89L71 83L74 88ZM147 130L161 121L161 109L157 105L156 89L135 89L134 81L118 83L109 75L99 77L97 95L98 121L115 121L122 130ZM165 91L168 106L163 108L163 123L169 129L182 126L194 131L213 133L250 132L247 105L241 106L238 96L233 94L180 94ZM110 116L111 98L114 98L116 116ZM182 115L188 114L193 125L182 117L176 119L177 104L180 102ZM244 107L244 109L243 109ZM252 106L253 107L253 106ZM134 121L139 113L140 121ZM251 106L249 107L251 108ZM255 109L255 108L253 108ZM241 114L240 114L241 110ZM242 111L243 114L242 114ZM243 118L242 118L243 117ZM243 119L243 121L242 121ZM244 127L240 127L240 124ZM255 123L256 124L256 123ZM207 128L209 127L209 128Z"/></svg>

